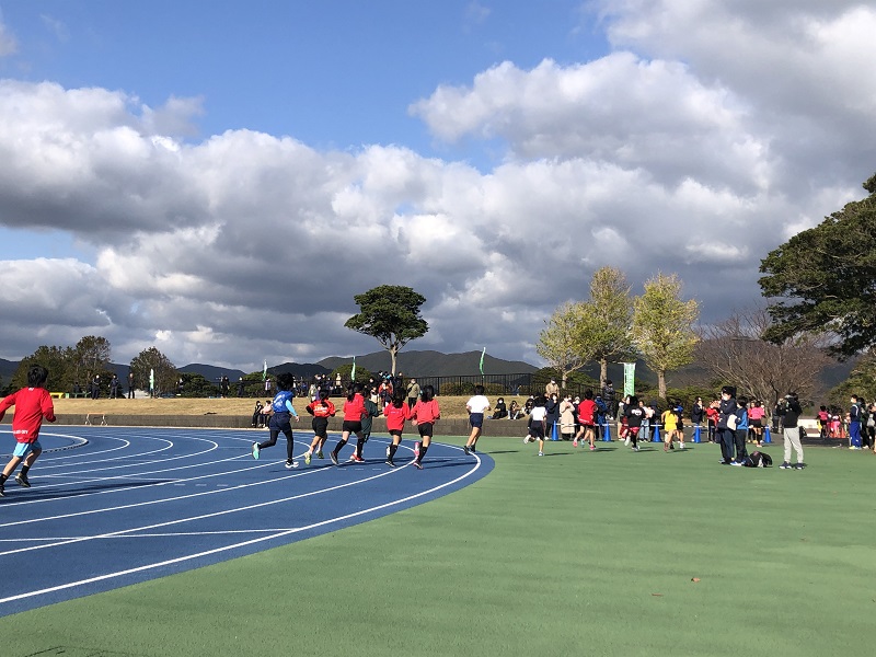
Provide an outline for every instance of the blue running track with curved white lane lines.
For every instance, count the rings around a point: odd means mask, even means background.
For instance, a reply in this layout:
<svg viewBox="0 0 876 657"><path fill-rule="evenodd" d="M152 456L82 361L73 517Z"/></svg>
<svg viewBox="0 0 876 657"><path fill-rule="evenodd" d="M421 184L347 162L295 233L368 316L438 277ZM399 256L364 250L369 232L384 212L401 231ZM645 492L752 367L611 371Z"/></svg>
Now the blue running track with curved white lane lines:
<svg viewBox="0 0 876 657"><path fill-rule="evenodd" d="M250 449L266 431L51 427L31 488L13 479L0 498L0 616L198 568L365 522L429 502L485 476L493 460L433 442L412 465L413 440L384 463L372 436L365 463L304 465L312 431ZM355 440L354 440L355 441ZM11 434L0 431L11 450ZM353 443L341 453L353 453ZM9 454L2 454L5 464Z"/></svg>

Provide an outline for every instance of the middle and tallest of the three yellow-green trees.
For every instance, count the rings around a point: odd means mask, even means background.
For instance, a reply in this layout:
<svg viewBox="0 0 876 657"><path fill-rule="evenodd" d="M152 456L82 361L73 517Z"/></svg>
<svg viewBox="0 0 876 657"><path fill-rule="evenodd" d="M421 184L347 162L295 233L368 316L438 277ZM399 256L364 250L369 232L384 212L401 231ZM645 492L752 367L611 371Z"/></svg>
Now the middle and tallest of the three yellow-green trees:
<svg viewBox="0 0 876 657"><path fill-rule="evenodd" d="M599 362L600 387L608 380L609 360L633 351L631 291L623 272L615 267L597 269L590 280L590 299L584 310L579 342L583 354Z"/></svg>

